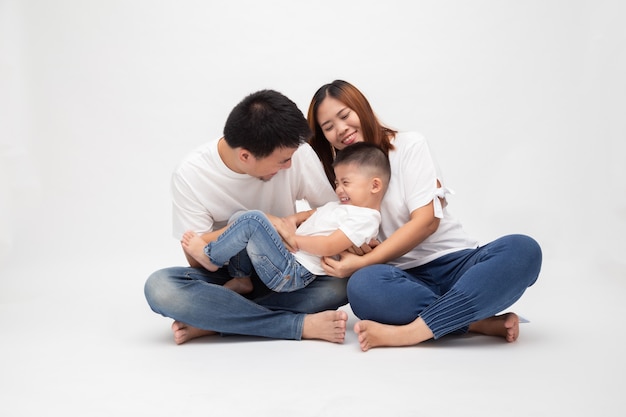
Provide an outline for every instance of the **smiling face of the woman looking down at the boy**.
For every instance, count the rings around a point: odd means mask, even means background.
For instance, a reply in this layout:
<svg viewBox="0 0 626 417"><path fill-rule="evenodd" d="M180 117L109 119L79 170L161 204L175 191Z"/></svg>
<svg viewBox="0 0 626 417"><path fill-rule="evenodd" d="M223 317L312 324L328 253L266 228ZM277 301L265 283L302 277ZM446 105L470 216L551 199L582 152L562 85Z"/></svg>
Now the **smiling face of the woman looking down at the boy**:
<svg viewBox="0 0 626 417"><path fill-rule="evenodd" d="M317 120L326 140L339 150L363 142L359 116L336 98L327 96L320 103Z"/></svg>

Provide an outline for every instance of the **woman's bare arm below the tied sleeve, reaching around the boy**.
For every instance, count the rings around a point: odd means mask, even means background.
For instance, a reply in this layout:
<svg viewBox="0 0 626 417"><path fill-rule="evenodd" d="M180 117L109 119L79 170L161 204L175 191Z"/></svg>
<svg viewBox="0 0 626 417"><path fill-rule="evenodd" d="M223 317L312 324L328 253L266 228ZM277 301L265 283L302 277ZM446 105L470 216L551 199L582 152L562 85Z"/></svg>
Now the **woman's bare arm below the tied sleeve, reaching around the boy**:
<svg viewBox="0 0 626 417"><path fill-rule="evenodd" d="M369 253L359 256L344 252L340 260L324 258L322 266L328 275L348 277L365 266L389 262L404 255L435 233L439 221L439 218L435 217L431 202L413 210L408 222Z"/></svg>

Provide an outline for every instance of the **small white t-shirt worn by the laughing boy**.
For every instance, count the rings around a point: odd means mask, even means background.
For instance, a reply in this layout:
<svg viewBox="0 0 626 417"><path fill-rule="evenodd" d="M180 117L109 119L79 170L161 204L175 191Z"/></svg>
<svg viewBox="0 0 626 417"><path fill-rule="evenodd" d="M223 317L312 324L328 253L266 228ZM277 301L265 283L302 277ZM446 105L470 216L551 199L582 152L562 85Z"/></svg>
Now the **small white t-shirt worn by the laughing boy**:
<svg viewBox="0 0 626 417"><path fill-rule="evenodd" d="M341 230L354 246L369 243L378 236L380 212L367 207L331 202L318 209L296 230L300 236L328 236ZM305 251L294 254L300 265L315 275L326 275L320 256Z"/></svg>

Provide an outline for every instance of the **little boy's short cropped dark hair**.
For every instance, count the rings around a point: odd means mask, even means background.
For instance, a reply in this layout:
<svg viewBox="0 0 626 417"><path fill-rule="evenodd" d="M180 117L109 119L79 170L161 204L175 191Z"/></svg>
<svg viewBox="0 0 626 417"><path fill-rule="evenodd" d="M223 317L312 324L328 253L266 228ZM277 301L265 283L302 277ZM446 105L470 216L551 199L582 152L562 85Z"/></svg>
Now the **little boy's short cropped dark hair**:
<svg viewBox="0 0 626 417"><path fill-rule="evenodd" d="M378 146L368 142L357 142L337 152L333 168L341 164L355 164L360 168L369 169L380 177L384 185L389 184L391 166L389 158Z"/></svg>

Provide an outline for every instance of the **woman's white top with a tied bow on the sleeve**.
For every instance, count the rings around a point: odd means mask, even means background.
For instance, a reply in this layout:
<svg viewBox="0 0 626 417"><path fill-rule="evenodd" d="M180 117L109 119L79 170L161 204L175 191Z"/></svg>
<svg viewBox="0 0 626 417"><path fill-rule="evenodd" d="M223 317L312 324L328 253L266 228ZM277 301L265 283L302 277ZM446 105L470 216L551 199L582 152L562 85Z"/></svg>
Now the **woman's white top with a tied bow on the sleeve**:
<svg viewBox="0 0 626 417"><path fill-rule="evenodd" d="M389 152L391 180L381 207L382 222L379 239L382 241L410 220L413 210L435 203L439 228L405 255L389 262L401 269L423 265L440 256L461 249L475 248L478 241L463 230L461 224L448 213L446 204L439 201L449 190L437 167L424 136L416 132L398 133L392 141L395 149ZM441 187L437 186L437 180Z"/></svg>

